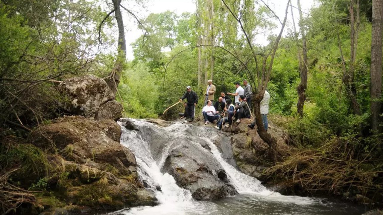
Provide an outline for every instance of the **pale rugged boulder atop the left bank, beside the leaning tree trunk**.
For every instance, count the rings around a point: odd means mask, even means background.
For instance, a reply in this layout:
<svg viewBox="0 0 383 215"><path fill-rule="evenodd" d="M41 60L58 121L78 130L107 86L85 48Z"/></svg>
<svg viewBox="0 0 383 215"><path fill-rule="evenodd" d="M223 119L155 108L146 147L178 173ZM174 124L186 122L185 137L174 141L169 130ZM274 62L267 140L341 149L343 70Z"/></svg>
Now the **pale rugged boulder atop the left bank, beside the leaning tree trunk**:
<svg viewBox="0 0 383 215"><path fill-rule="evenodd" d="M97 119L119 119L122 105L114 101L115 96L105 80L94 75L69 78L59 85L70 102L63 108L73 115Z"/></svg>

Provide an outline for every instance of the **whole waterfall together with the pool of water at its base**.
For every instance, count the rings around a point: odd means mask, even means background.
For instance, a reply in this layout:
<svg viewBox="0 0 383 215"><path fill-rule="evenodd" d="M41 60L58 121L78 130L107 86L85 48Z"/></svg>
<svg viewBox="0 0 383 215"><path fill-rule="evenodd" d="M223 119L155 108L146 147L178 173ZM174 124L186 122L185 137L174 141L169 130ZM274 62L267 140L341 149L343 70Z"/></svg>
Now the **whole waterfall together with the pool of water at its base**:
<svg viewBox="0 0 383 215"><path fill-rule="evenodd" d="M134 207L113 214L352 214L345 212L344 208L336 213L331 213L333 208L329 205L332 204L324 204L319 199L284 196L269 191L262 186L259 180L241 173L223 158L217 146L212 142L212 139L223 133L215 129L181 123L161 128L142 120L129 119L129 121L137 127L137 130L128 130L123 126L123 122L119 122L122 129L121 144L128 147L136 156L139 178L155 191L159 205ZM161 172L161 168L169 155L170 147L190 136L193 138L188 139L188 144L200 147L201 150L209 150L210 148L210 153L226 171L230 184L236 188L240 195L215 202L196 201L192 198L190 191L177 186L172 176ZM201 142L205 142L209 146L208 149L203 148ZM153 146L156 145L163 147L153 149ZM156 150L158 153L153 153ZM160 191L157 191L156 187L160 187ZM231 207L237 209L232 210Z"/></svg>

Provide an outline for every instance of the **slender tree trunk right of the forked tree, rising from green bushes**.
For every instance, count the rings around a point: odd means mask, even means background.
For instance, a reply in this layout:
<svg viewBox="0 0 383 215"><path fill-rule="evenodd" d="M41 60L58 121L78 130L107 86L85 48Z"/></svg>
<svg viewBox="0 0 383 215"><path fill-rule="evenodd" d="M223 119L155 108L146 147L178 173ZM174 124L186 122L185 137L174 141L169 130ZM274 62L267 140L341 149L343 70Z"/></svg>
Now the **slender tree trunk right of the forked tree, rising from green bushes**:
<svg viewBox="0 0 383 215"><path fill-rule="evenodd" d="M299 10L299 26L302 34L302 51L303 51L303 63L300 66L300 75L301 75L301 83L297 88L298 91L298 114L303 117L303 106L304 101L306 100L306 90L307 90L307 46L306 46L306 34L304 32L304 24L303 24L303 15L301 10L301 3L298 0L298 10Z"/></svg>

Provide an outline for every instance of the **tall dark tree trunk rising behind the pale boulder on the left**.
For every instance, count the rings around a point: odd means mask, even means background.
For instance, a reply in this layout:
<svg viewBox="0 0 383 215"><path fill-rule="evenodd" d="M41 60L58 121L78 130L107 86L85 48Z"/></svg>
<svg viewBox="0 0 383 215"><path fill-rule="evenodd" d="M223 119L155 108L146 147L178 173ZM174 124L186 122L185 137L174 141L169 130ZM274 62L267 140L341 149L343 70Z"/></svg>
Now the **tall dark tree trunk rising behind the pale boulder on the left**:
<svg viewBox="0 0 383 215"><path fill-rule="evenodd" d="M123 23L122 14L121 14L120 6L119 6L121 0L112 0L112 2L115 8L115 17L116 17L117 26L118 26L118 47L117 47L118 54L117 54L115 66L113 67L110 75L107 78L105 78L105 81L108 84L109 88L112 90L112 92L116 94L120 75L126 60L126 41L125 41L125 33L124 33L124 23Z"/></svg>

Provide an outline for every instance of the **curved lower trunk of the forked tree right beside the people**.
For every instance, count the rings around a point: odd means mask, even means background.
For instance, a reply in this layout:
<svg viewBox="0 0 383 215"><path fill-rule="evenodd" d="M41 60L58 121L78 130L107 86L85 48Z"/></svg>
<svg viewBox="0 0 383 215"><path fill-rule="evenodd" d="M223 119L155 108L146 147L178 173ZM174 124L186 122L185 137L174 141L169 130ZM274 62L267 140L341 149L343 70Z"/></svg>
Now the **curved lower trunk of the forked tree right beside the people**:
<svg viewBox="0 0 383 215"><path fill-rule="evenodd" d="M260 110L260 102L262 101L264 95L260 95L260 93L255 94L252 99L253 107L254 107L254 117L255 117L255 125L257 126L257 132L259 137L264 140L268 148L268 157L269 159L276 163L277 160L277 140L264 128L264 124L262 121L261 110Z"/></svg>

